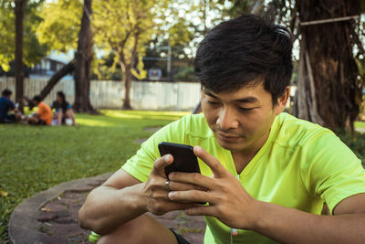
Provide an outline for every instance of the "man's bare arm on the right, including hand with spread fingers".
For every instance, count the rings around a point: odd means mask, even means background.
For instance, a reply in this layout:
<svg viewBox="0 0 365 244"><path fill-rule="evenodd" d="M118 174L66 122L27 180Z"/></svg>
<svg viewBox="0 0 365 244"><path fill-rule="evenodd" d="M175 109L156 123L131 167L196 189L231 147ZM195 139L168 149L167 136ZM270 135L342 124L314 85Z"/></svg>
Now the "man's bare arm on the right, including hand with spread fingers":
<svg viewBox="0 0 365 244"><path fill-rule="evenodd" d="M365 194L350 196L334 209L335 216L318 216L297 209L261 202L250 196L235 176L214 156L194 147L214 173L214 177L172 173L175 183L192 183L208 189L169 193L174 201L210 203L186 209L188 215L214 216L231 228L251 229L283 243L364 243Z"/></svg>

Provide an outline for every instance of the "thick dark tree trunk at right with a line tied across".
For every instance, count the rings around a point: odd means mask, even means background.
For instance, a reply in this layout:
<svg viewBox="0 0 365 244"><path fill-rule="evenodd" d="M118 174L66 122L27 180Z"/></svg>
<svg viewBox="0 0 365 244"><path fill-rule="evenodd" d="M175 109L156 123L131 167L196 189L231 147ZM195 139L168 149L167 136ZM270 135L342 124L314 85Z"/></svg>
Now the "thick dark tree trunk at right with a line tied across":
<svg viewBox="0 0 365 244"><path fill-rule="evenodd" d="M350 34L355 21L308 21L360 15L359 0L298 0L301 21L297 116L330 129L353 132L361 86Z"/></svg>

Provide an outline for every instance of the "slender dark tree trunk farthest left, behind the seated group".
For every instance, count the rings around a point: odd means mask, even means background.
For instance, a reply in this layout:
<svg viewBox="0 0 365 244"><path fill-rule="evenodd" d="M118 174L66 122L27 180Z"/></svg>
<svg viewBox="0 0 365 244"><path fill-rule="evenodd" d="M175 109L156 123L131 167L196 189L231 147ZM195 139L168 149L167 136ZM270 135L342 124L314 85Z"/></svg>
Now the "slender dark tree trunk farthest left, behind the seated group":
<svg viewBox="0 0 365 244"><path fill-rule="evenodd" d="M26 0L16 0L16 102L24 111L24 72L23 72L23 22Z"/></svg>

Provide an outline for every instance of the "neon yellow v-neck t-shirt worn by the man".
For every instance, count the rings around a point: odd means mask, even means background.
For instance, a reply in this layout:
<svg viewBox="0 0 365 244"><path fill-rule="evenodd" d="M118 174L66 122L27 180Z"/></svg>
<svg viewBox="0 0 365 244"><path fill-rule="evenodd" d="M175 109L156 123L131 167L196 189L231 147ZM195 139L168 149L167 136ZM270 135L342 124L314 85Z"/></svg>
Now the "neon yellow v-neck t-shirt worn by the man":
<svg viewBox="0 0 365 244"><path fill-rule="evenodd" d="M161 142L200 145L237 175L230 151L217 143L203 114L188 115L163 127L122 168L141 182L147 181L153 162L160 157L157 145ZM199 165L203 175L212 175L200 160ZM241 172L239 181L255 199L313 214L320 214L323 202L332 212L344 198L365 193L360 159L328 129L285 112L276 116L266 143ZM229 243L231 228L215 217L204 218L204 243ZM276 242L239 229L234 243Z"/></svg>

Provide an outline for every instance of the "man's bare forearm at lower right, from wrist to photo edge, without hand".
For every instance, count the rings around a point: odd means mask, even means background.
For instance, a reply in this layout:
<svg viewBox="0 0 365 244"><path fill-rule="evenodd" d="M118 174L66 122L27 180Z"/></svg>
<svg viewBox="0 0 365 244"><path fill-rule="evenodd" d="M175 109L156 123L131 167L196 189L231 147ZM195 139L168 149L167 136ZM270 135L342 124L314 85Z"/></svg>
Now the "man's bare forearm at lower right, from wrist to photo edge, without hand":
<svg viewBox="0 0 365 244"><path fill-rule="evenodd" d="M252 230L282 243L363 243L365 214L318 216L270 203L261 205Z"/></svg>

